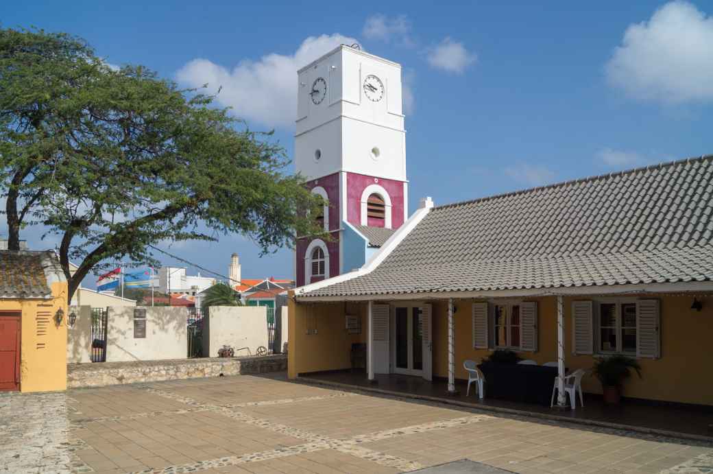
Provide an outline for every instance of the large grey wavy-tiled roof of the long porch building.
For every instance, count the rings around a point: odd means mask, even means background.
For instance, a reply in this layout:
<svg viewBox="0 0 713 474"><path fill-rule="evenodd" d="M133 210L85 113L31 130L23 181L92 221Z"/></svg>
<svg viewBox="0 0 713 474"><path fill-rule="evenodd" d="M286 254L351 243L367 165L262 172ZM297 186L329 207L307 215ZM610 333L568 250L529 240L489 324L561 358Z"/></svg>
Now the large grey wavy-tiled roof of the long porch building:
<svg viewBox="0 0 713 474"><path fill-rule="evenodd" d="M713 156L434 208L363 276L302 296L713 280Z"/></svg>

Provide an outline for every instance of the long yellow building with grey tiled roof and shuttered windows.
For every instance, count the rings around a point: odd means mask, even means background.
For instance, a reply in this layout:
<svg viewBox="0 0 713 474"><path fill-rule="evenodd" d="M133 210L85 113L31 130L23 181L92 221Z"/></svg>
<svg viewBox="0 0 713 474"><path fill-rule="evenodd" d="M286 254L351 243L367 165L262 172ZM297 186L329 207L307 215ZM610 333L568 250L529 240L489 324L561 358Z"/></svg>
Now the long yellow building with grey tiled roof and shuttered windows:
<svg viewBox="0 0 713 474"><path fill-rule="evenodd" d="M565 372L626 356L642 368L627 398L713 405L712 189L704 156L426 199L362 268L292 293L289 376L351 368L363 344L366 378L443 378L455 391L465 360L502 349L553 374L549 403ZM590 375L582 387L602 393Z"/></svg>

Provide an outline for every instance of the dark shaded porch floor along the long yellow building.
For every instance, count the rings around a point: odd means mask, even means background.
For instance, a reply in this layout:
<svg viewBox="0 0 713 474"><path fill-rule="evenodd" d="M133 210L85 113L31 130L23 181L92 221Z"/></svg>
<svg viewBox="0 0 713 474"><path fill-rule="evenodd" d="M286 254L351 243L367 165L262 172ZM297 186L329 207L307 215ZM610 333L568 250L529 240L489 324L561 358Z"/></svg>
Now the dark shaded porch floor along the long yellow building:
<svg viewBox="0 0 713 474"><path fill-rule="evenodd" d="M672 436L713 443L713 409L702 406L648 403L644 400L622 400L620 405L605 405L600 395L585 393L585 406L576 410L550 408L533 403L516 403L494 398L478 398L471 386L466 395L466 382L455 381L455 393L448 393L446 378L424 378L413 375L376 374L374 381L364 370L334 370L309 373L299 380L328 385L344 390L396 395L416 400L429 400L464 408L523 415L543 420L568 421L616 430L635 430L651 435Z"/></svg>

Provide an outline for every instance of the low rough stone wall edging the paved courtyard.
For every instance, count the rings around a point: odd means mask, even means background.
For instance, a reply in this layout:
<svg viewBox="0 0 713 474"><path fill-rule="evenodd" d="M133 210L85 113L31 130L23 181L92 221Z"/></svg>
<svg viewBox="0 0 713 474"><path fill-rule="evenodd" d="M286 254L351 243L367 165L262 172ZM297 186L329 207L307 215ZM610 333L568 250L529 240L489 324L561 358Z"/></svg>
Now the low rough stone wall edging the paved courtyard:
<svg viewBox="0 0 713 474"><path fill-rule="evenodd" d="M103 387L124 383L185 378L249 375L287 370L287 356L246 356L67 364L67 388Z"/></svg>

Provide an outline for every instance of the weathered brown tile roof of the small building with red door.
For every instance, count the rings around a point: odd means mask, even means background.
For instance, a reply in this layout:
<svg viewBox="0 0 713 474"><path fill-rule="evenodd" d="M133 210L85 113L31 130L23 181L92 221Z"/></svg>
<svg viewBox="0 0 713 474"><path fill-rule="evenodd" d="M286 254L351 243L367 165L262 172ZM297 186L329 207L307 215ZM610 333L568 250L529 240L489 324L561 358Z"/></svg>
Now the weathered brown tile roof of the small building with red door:
<svg viewBox="0 0 713 474"><path fill-rule="evenodd" d="M0 298L49 298L65 281L53 251L0 251Z"/></svg>

